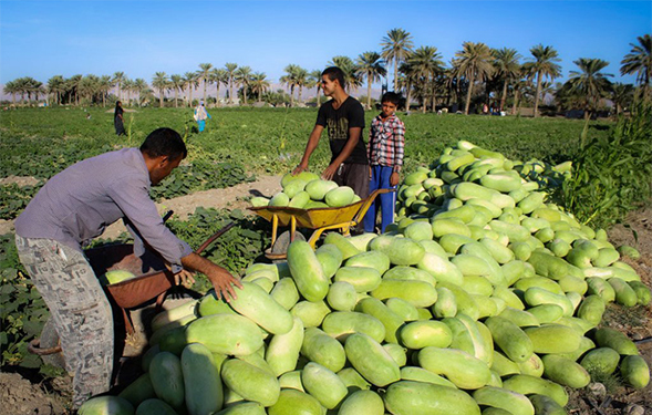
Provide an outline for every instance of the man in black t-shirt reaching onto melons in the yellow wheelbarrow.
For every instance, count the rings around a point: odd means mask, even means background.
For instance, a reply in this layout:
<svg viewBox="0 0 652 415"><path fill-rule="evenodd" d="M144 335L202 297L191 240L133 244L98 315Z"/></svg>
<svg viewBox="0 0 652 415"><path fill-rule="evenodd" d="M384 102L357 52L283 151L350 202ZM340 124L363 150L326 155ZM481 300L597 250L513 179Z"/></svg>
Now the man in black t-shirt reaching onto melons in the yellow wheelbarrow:
<svg viewBox="0 0 652 415"><path fill-rule="evenodd" d="M321 74L321 84L323 94L332 100L319 108L301 163L292 173L308 169L310 155L317 148L321 133L328 127L332 157L321 177L353 188L364 199L369 196L369 160L362 139L364 110L358 100L344 91L344 73L341 69L327 68Z"/></svg>

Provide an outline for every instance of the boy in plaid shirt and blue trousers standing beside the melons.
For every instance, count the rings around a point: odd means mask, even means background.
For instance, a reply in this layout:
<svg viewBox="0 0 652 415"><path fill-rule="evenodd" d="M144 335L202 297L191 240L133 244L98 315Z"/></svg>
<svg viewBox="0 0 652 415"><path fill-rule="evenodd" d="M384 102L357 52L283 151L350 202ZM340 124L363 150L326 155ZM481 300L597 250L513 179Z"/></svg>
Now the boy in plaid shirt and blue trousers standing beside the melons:
<svg viewBox="0 0 652 415"><path fill-rule="evenodd" d="M394 114L401 97L394 92L387 92L381 98L383 112L371 123L369 131L369 193L375 189L395 188L399 184L401 167L403 166L403 148L405 147L405 125ZM381 232L394 221L394 206L396 193L380 195L381 199ZM374 203L364 216L364 231L375 230L377 204Z"/></svg>

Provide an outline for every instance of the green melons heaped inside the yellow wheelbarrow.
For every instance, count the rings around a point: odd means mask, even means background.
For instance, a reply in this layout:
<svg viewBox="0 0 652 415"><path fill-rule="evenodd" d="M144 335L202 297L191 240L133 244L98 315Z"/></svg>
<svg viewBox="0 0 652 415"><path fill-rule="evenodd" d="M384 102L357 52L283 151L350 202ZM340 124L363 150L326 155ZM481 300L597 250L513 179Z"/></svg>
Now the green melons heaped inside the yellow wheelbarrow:
<svg viewBox="0 0 652 415"><path fill-rule="evenodd" d="M314 173L303 172L298 175L288 173L281 179L283 190L271 199L262 196L251 198L253 207L292 207L298 209L314 209L342 207L360 200L349 186L338 186L332 180L322 180Z"/></svg>

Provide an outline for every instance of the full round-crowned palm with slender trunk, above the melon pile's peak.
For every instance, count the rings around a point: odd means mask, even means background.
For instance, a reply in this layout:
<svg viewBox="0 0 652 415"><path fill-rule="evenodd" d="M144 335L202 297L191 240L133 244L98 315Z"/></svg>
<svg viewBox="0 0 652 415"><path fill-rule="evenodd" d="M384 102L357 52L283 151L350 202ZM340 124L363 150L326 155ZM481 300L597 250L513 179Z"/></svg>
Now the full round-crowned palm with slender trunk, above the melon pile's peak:
<svg viewBox="0 0 652 415"><path fill-rule="evenodd" d="M456 59L453 65L456 69L457 76L464 76L468 81L468 91L466 92L466 103L464 114L468 115L473 86L476 81L484 82L494 73L491 61L491 50L483 42L473 43L464 42L462 51L455 53Z"/></svg>

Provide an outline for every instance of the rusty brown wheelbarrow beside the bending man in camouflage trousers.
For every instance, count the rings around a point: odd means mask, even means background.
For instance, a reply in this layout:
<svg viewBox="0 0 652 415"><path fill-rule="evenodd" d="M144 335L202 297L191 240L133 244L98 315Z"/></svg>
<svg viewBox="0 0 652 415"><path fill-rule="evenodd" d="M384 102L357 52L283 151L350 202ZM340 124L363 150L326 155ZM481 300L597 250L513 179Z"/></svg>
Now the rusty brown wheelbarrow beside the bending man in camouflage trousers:
<svg viewBox="0 0 652 415"><path fill-rule="evenodd" d="M234 226L234 222L228 224L208 238L195 252L201 253ZM158 255L146 251L143 257L136 257L134 246L131 243L108 245L89 249L84 253L96 276L113 270L130 271L136 276L122 282L104 286L110 302L122 312L127 334L134 332L130 309L156 299L155 310L159 312L168 290L175 286L174 274ZM61 344L59 344L59 335L52 319L45 322L41 338L32 340L28 350L40 355L45 363L64 367Z"/></svg>

